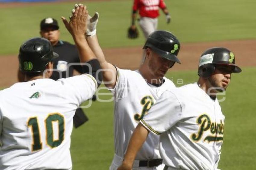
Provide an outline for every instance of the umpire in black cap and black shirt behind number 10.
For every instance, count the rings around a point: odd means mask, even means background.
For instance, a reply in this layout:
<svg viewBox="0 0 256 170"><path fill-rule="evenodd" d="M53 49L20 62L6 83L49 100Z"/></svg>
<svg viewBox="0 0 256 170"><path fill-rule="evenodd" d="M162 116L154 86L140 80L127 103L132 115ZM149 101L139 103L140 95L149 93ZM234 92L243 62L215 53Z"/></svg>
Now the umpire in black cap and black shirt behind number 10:
<svg viewBox="0 0 256 170"><path fill-rule="evenodd" d="M80 74L83 72L76 46L59 39L60 30L57 20L50 17L41 20L40 35L41 37L48 39L53 46L53 51L59 54L58 58L53 59L54 71L50 77L51 79L58 80L59 78L72 77L74 71L79 72ZM18 81L23 82L23 79L24 75L18 71ZM95 95L92 99L96 99ZM76 109L76 113L73 117L74 127L77 128L81 126L87 120L88 117L83 110L81 108Z"/></svg>

